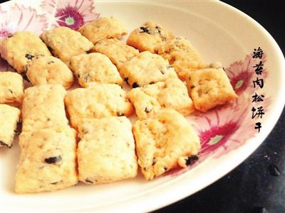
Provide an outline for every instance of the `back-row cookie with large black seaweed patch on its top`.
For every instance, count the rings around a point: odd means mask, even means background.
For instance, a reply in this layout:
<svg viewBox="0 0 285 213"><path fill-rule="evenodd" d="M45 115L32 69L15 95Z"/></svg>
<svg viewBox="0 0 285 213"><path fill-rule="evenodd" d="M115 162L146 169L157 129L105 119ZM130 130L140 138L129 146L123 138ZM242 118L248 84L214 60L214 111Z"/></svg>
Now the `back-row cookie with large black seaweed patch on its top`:
<svg viewBox="0 0 285 213"><path fill-rule="evenodd" d="M136 28L128 37L127 44L142 51L156 53L156 48L164 45L166 40L175 38L172 33L157 23L147 21Z"/></svg>

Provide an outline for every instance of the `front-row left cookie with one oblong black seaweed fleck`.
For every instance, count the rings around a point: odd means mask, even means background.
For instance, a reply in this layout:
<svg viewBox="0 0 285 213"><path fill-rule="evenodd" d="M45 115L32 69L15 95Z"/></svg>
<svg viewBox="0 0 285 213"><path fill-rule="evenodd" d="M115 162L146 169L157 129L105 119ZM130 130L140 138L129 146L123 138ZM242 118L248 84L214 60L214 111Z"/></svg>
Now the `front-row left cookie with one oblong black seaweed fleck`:
<svg viewBox="0 0 285 213"><path fill-rule="evenodd" d="M21 136L26 146L21 148L16 172L17 193L50 192L76 185L76 131L66 126L61 131L37 129Z"/></svg>

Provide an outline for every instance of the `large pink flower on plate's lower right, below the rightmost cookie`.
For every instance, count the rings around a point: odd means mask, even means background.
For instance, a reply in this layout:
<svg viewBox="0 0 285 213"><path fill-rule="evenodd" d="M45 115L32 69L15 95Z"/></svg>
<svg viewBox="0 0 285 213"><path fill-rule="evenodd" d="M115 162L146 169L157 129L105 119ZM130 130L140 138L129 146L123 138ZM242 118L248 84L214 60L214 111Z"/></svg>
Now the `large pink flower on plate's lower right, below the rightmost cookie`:
<svg viewBox="0 0 285 213"><path fill-rule="evenodd" d="M251 119L250 98L242 95L239 99L239 104L232 102L207 114L198 113L195 116L193 126L201 141L200 156L213 153L217 148L222 148L225 153L257 133Z"/></svg>

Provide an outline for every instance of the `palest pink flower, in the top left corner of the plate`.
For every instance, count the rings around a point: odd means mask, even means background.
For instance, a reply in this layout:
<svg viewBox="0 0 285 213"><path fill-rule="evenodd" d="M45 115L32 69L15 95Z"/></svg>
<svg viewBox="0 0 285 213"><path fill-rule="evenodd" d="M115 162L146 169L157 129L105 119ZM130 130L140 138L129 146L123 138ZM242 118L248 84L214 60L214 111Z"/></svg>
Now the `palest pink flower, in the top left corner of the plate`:
<svg viewBox="0 0 285 213"><path fill-rule="evenodd" d="M38 15L36 9L14 4L9 9L0 7L0 39L12 35L16 31L32 31L40 34L46 29L46 17Z"/></svg>

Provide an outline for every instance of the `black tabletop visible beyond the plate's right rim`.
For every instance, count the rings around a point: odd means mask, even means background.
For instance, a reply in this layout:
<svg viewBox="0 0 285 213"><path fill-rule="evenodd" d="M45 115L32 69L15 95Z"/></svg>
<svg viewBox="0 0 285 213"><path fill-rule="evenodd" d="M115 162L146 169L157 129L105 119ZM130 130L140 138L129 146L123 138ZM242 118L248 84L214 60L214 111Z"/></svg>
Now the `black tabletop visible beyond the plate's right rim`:
<svg viewBox="0 0 285 213"><path fill-rule="evenodd" d="M284 0L224 2L264 26L285 53ZM195 195L156 212L284 213L285 110L257 151L231 173Z"/></svg>

